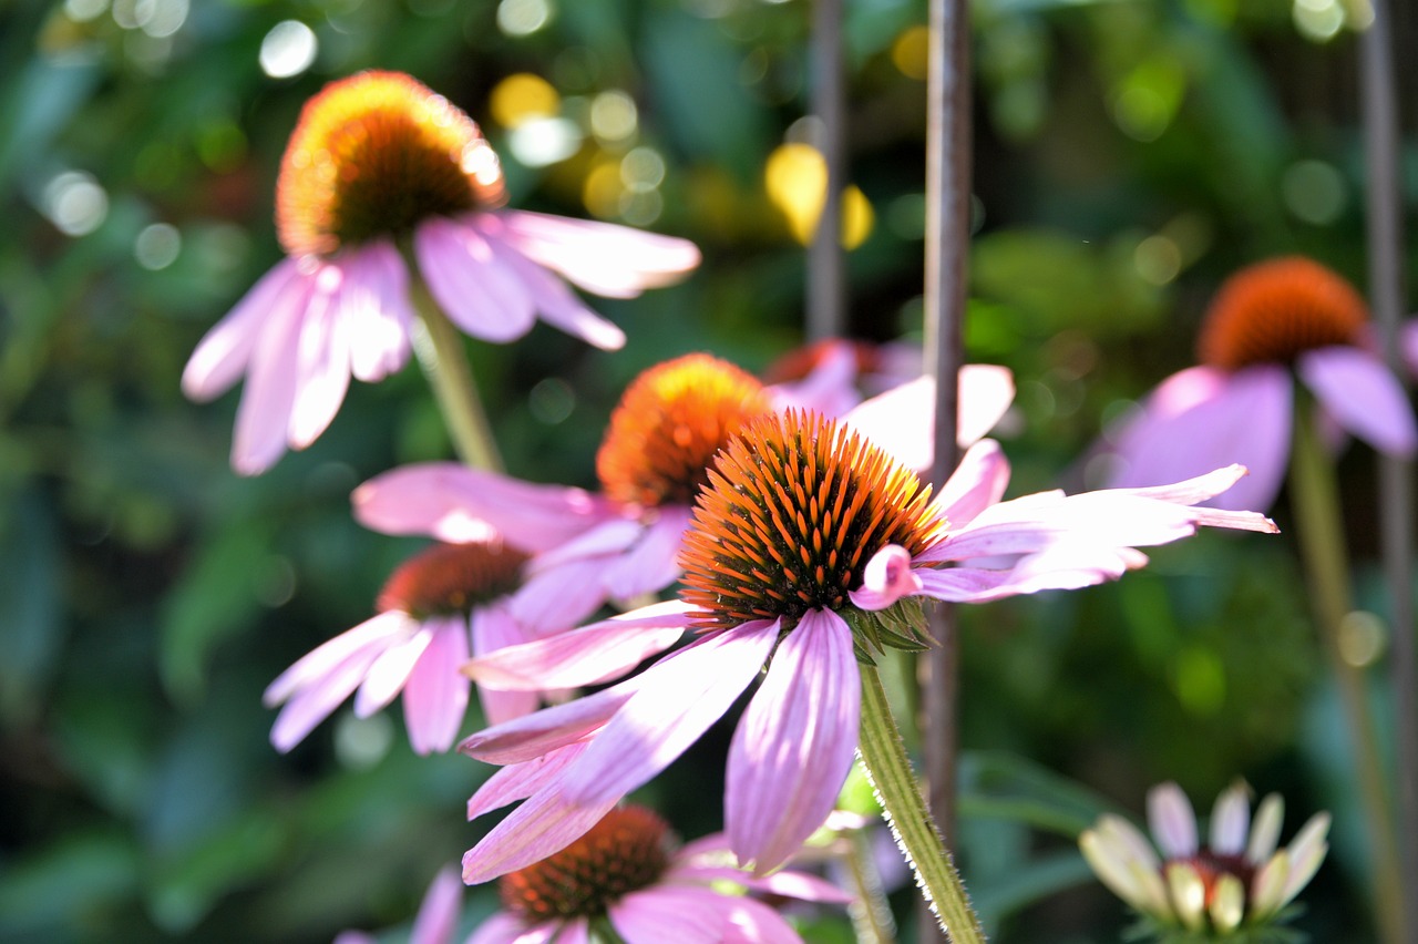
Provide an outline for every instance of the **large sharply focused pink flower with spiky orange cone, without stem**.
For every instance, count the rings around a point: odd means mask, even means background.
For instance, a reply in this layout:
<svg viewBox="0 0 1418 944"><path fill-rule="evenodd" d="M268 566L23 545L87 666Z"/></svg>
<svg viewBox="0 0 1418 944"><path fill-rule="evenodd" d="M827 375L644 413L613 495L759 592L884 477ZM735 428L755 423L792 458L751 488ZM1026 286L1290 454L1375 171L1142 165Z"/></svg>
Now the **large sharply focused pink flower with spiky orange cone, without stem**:
<svg viewBox="0 0 1418 944"><path fill-rule="evenodd" d="M469 816L526 798L464 858L464 880L571 842L688 748L764 665L729 750L725 826L740 862L771 872L827 818L852 764L858 661L926 645L913 598L980 602L1102 583L1146 560L1137 546L1198 524L1273 532L1261 515L1191 507L1242 473L998 503L1008 466L984 441L932 500L915 473L830 420L757 420L699 496L678 612L661 604L469 663L493 687L573 687L645 658L635 621L698 631L640 675L459 746L505 765Z"/></svg>

